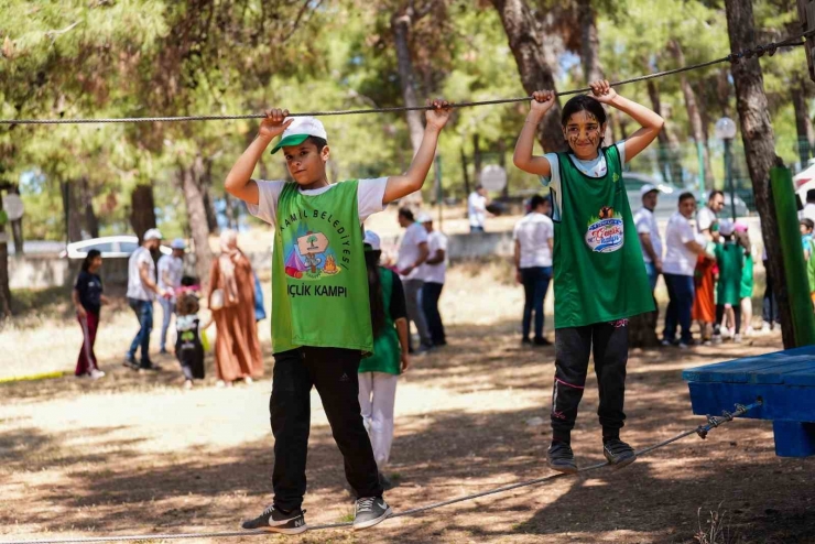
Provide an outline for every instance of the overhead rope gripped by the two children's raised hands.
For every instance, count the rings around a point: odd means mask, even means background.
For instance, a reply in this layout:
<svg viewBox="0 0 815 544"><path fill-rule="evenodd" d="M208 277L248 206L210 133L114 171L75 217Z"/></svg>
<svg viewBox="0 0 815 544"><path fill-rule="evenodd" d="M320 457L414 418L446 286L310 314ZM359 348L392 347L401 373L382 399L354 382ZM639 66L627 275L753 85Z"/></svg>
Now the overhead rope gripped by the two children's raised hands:
<svg viewBox="0 0 815 544"><path fill-rule="evenodd" d="M809 34L815 33L815 30L803 32L801 34L790 36L781 42L770 42L768 44L757 45L756 47L743 50L740 52L730 53L721 58L708 61L706 63L692 64L689 66L683 66L681 68L667 69L663 72L655 72L653 74L646 74L639 77L631 77L629 79L622 79L620 81L611 83L611 87L619 87L621 85L628 85L631 83L645 81L648 79L655 79L658 77L671 76L674 74L681 74L683 72L691 72L694 69L706 68L714 64L729 62L738 64L742 58L751 58L753 56L761 57L764 54L770 56L774 55L779 47L793 47L796 45L803 45L801 42L802 37L806 37ZM565 90L556 93L559 96L580 95L590 91L590 87L584 87L580 89ZM525 102L531 100L532 97L524 96L519 98L497 98L493 100L476 100L465 102L454 102L454 108L469 108L474 106L492 106L498 104L514 104ZM362 113L395 113L402 111L426 111L433 109L430 106L396 106L392 108L370 108L370 109L346 109L346 110L329 110L329 111L302 111L296 113L289 113L290 117L328 117L328 116L354 116ZM93 124L93 123L119 123L119 122L180 122L180 121L231 121L238 119L263 119L263 113L246 113L239 116L182 116L182 117L122 117L122 118L101 118L101 119L0 119L0 124Z"/></svg>

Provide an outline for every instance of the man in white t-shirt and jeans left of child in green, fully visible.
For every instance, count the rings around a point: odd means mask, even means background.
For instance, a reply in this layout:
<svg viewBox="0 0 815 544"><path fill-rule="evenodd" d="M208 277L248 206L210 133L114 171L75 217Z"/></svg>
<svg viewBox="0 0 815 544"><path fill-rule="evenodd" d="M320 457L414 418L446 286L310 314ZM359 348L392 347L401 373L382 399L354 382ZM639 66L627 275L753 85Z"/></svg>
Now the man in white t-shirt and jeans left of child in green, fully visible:
<svg viewBox="0 0 815 544"><path fill-rule="evenodd" d="M678 211L667 221L665 229L665 260L662 273L667 286L670 302L665 313L665 330L662 345L678 345L687 348L693 344L691 335L691 311L694 303L694 270L698 255L711 257L705 252L705 237L695 233L691 218L696 209L696 198L692 193L680 195ZM676 326L682 327L682 336L676 340Z"/></svg>

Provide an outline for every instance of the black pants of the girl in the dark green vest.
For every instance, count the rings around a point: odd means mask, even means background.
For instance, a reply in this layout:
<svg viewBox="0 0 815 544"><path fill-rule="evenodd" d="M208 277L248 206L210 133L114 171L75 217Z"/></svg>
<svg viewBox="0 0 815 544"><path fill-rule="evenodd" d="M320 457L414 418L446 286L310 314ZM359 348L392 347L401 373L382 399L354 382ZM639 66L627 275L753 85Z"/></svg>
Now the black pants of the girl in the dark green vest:
<svg viewBox="0 0 815 544"><path fill-rule="evenodd" d="M626 421L628 319L555 330L555 385L552 393L553 439L567 442L583 399L588 357L594 348L595 372L600 390L604 436L617 436Z"/></svg>

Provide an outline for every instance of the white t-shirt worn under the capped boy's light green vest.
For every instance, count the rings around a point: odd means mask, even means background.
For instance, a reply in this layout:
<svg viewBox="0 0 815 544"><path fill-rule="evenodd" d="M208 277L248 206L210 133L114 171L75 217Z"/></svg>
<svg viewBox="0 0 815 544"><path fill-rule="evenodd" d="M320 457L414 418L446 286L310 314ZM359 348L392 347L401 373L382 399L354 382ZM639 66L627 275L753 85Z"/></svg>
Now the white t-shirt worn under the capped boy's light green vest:
<svg viewBox="0 0 815 544"><path fill-rule="evenodd" d="M274 225L278 219L278 200L280 199L280 194L283 193L283 187L285 187L286 183L295 182L268 182L258 179L256 183L258 184L258 205L247 203L247 208L249 208L249 213L254 217L270 225ZM357 214L359 215L360 225L373 214L384 209L382 198L384 198L384 188L387 185L387 177L359 181L359 185L357 185ZM322 195L336 186L337 184L334 183L318 189L303 191L301 188L300 194L306 196Z"/></svg>

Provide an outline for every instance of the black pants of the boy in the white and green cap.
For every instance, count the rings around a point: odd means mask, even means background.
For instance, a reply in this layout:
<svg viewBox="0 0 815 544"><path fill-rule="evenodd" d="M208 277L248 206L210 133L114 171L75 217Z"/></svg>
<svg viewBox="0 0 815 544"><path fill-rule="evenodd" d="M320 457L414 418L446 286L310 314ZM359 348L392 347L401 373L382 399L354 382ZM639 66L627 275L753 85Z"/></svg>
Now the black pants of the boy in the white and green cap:
<svg viewBox="0 0 815 544"><path fill-rule="evenodd" d="M359 411L358 350L304 347L274 356L272 398L274 504L296 510L306 490L312 385L323 401L332 434L357 497L382 497L377 461Z"/></svg>

